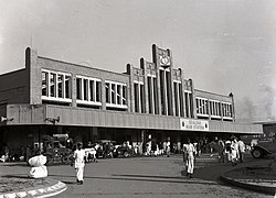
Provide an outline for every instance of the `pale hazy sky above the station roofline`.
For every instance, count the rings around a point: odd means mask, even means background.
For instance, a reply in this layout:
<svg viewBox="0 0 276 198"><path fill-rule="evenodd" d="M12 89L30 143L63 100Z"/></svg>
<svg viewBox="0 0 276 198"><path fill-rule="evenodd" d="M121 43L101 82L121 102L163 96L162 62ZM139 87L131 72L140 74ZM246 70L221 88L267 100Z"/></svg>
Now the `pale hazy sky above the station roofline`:
<svg viewBox="0 0 276 198"><path fill-rule="evenodd" d="M195 89L234 94L240 122L276 120L275 0L0 0L0 74L40 56L124 73L170 48Z"/></svg>

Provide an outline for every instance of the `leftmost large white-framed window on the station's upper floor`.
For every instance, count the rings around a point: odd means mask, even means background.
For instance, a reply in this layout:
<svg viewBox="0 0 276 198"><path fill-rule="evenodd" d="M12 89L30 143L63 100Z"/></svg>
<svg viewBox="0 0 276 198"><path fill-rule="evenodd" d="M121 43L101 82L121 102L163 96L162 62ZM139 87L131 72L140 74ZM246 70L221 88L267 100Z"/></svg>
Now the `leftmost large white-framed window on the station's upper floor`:
<svg viewBox="0 0 276 198"><path fill-rule="evenodd" d="M71 74L42 69L42 100L72 102Z"/></svg>

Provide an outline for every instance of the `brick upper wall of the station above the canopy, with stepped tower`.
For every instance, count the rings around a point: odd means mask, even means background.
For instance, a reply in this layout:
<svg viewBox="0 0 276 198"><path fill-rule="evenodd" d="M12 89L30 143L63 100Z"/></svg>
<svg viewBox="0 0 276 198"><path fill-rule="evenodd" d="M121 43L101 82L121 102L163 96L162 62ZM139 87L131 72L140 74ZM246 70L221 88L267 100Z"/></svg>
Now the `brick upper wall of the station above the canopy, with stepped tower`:
<svg viewBox="0 0 276 198"><path fill-rule="evenodd" d="M215 95L212 92L194 89L192 79L184 79L184 73L181 69L174 69L170 50L162 50L152 45L152 62L144 58L140 61L140 67L127 65L126 74L117 74L87 66L65 63L42 56L38 56L36 51L26 48L25 69L2 76L0 80L12 86L2 89L2 100L7 103L55 103L70 107L81 107L77 103L77 77L96 78L102 81L100 102L96 108L106 110L106 80L126 85L126 109L109 108L112 110L129 111L134 113L149 113L159 116L172 116L191 119L209 119L197 114L197 98L206 100L217 100L220 102L231 103L231 118L224 119L222 116L216 120L234 121L234 99L229 96ZM65 73L71 76L71 96L68 100L51 98L45 100L42 97L42 72ZM17 81L13 79L19 78ZM12 80L12 81L10 81ZM150 80L150 81L149 81ZM18 84L24 81L24 84ZM57 84L57 82L55 82ZM21 87L20 87L21 86ZM112 85L109 85L112 86ZM57 86L56 86L57 87ZM112 88L109 88L112 89ZM117 88L116 88L117 90ZM18 97L20 95L20 97ZM22 97L23 96L23 97ZM116 92L117 97L117 92ZM43 98L43 99L42 99ZM117 99L116 99L117 100ZM1 101L0 101L1 102ZM82 103L83 105L83 103ZM95 106L84 106L95 108ZM108 106L110 107L110 106Z"/></svg>

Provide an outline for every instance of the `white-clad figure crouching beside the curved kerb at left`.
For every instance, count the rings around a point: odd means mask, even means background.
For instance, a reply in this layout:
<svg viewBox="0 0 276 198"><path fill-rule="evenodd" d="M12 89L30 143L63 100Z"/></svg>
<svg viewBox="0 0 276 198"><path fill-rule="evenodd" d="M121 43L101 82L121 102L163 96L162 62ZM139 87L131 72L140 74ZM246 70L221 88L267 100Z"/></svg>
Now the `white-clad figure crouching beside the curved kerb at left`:
<svg viewBox="0 0 276 198"><path fill-rule="evenodd" d="M45 166L47 158L40 151L36 154L36 156L29 160L29 164L32 166L29 176L32 178L44 178L47 176L47 168Z"/></svg>

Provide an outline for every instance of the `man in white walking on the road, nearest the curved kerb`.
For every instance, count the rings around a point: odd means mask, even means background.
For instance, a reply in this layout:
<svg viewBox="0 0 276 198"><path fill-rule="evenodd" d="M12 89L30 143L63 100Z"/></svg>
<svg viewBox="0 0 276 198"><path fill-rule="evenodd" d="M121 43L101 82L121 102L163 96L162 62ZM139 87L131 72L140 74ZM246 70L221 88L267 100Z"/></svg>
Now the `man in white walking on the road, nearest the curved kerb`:
<svg viewBox="0 0 276 198"><path fill-rule="evenodd" d="M83 150L83 144L77 143L77 148L74 152L75 169L76 169L76 182L77 184L83 184L84 182L84 160L85 151Z"/></svg>

